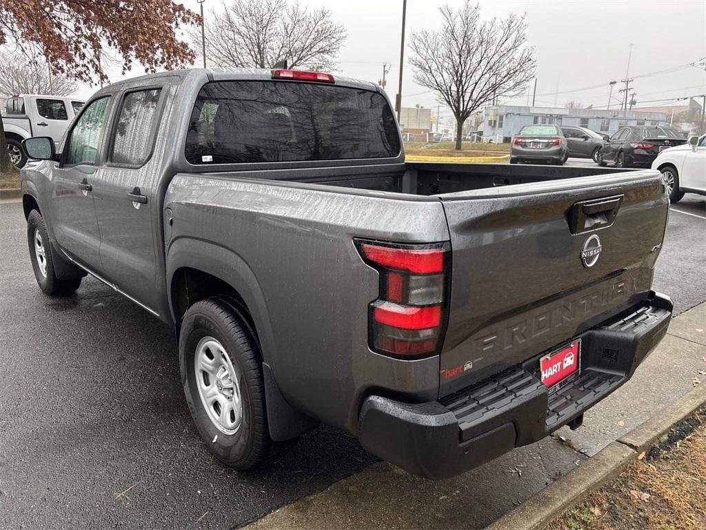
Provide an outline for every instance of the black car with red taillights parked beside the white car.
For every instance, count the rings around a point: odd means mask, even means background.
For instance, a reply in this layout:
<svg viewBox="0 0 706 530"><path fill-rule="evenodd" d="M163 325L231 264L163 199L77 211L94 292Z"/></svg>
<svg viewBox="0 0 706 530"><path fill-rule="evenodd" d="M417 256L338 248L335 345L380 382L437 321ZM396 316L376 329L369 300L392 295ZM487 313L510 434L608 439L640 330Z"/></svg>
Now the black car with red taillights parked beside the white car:
<svg viewBox="0 0 706 530"><path fill-rule="evenodd" d="M599 165L614 163L616 167L649 166L659 151L686 143L686 138L674 127L627 126L618 129L601 150Z"/></svg>

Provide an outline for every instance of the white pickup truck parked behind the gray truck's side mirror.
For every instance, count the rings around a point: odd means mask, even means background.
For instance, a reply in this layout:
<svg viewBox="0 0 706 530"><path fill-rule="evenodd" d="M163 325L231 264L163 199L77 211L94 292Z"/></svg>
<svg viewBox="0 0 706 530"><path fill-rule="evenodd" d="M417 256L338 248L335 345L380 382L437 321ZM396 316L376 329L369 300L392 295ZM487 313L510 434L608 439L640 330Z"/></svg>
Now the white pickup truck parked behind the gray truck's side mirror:
<svg viewBox="0 0 706 530"><path fill-rule="evenodd" d="M81 100L54 95L15 95L8 98L2 124L12 163L16 167L27 163L20 147L24 139L42 134L59 143L81 107Z"/></svg>

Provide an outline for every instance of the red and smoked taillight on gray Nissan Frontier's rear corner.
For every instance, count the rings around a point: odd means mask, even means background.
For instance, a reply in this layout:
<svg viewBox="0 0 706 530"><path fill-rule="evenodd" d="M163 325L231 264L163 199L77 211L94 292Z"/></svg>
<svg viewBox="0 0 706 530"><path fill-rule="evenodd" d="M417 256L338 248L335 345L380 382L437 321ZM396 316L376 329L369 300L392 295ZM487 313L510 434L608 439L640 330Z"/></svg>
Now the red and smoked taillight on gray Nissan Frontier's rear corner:
<svg viewBox="0 0 706 530"><path fill-rule="evenodd" d="M380 274L369 307L369 343L377 353L417 358L438 353L446 322L450 245L395 245L355 240Z"/></svg>

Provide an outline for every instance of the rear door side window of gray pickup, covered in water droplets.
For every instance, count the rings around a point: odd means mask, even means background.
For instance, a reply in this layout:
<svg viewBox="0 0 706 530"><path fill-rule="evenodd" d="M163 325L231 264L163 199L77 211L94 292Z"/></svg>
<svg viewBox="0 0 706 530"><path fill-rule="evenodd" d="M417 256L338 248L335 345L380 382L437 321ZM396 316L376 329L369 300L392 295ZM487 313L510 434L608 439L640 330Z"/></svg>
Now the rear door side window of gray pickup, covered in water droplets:
<svg viewBox="0 0 706 530"><path fill-rule="evenodd" d="M157 105L162 89L127 93L118 114L110 160L116 164L143 165L150 158L157 133Z"/></svg>

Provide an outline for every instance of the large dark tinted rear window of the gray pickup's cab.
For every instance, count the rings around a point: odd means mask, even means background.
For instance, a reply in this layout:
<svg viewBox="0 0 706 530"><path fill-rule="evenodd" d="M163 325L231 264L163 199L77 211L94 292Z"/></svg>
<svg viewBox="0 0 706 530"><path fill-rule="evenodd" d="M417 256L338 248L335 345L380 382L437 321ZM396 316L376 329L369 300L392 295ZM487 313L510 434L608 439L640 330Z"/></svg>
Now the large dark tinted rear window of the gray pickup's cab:
<svg viewBox="0 0 706 530"><path fill-rule="evenodd" d="M196 98L186 137L192 164L399 154L395 118L381 94L314 83L208 83Z"/></svg>

